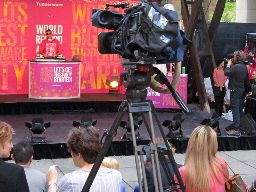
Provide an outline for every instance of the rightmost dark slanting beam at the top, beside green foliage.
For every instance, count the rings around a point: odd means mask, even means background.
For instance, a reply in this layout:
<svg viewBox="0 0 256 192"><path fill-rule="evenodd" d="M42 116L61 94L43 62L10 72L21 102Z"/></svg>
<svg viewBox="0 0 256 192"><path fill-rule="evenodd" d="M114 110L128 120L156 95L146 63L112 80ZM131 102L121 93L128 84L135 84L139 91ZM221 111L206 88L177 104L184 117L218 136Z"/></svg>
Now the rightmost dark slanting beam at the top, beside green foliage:
<svg viewBox="0 0 256 192"><path fill-rule="evenodd" d="M213 18L212 18L212 21L210 22L210 26L208 29L211 44L213 44L214 37L218 30L218 26L220 25L221 17L225 9L225 3L226 3L226 0L218 0L216 4L216 7L213 13Z"/></svg>

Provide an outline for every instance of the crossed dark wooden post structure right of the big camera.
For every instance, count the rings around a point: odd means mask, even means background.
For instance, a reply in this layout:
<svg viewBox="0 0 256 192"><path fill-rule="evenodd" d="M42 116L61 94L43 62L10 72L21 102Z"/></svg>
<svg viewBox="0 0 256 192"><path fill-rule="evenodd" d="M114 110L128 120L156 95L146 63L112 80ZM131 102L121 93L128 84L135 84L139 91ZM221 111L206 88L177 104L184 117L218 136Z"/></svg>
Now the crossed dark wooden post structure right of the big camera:
<svg viewBox="0 0 256 192"><path fill-rule="evenodd" d="M195 71L196 86L201 110L208 113L210 113L210 108L207 99L200 58L202 64L207 61L210 79L212 86L214 87L213 70L216 68L216 64L213 55L212 43L225 8L225 1L226 0L218 0L213 14L213 19L210 23L210 27L207 29L204 10L202 7L202 0L195 0L192 2L193 8L190 15L187 0L181 0L181 15L185 27L185 33L187 34L188 39L192 41L190 45L184 46L183 62L186 60L189 50L192 68ZM191 4L191 1L189 1L189 4ZM200 51L197 50L196 40L194 37L194 32L197 26L199 30L199 36L201 37L203 43L203 50Z"/></svg>

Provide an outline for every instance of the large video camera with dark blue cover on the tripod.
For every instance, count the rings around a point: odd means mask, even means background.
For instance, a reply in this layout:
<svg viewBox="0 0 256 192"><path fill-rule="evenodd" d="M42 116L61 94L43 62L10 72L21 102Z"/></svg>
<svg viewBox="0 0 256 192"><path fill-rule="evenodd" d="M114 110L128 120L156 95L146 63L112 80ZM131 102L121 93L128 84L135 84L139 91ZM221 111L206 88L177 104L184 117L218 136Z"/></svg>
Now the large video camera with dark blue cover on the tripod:
<svg viewBox="0 0 256 192"><path fill-rule="evenodd" d="M111 6L125 8L125 14L109 10ZM183 44L190 41L179 30L176 11L148 1L131 7L129 3L106 4L105 9L92 11L92 26L115 30L99 33L101 54L119 54L123 59L151 64L182 61Z"/></svg>

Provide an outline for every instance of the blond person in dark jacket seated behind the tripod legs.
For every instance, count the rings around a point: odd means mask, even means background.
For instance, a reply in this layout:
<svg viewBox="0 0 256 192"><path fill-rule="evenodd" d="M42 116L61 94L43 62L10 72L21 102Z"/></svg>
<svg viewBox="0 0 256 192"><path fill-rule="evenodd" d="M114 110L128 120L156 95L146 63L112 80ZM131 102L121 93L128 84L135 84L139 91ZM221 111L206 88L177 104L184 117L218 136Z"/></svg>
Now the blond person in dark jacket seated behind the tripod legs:
<svg viewBox="0 0 256 192"><path fill-rule="evenodd" d="M151 145L152 142L150 142L149 144ZM156 144L157 145L165 145L164 139L163 138L156 138ZM171 145L171 143L169 143L169 146L171 147L172 153L174 155L175 154L175 148ZM171 162L170 162L170 160L169 160L167 155L165 155L165 159L167 160L167 163L168 163L168 166L170 167L171 173L174 176L174 170L172 168ZM164 169L163 169L160 161L159 161L159 165L160 165L160 173L161 173L161 179L162 179L162 184L163 184L163 190L165 191L165 190L169 189L170 186L169 186L167 177L165 176L165 172L164 172ZM177 164L177 163L176 163L176 165L177 165L178 168L180 168L182 166L182 165ZM154 179L153 179L152 165L150 165L148 167L145 167L145 170L146 170L148 191L149 192L154 192L155 191L155 185L154 185ZM143 184L143 191L144 191L144 184Z"/></svg>

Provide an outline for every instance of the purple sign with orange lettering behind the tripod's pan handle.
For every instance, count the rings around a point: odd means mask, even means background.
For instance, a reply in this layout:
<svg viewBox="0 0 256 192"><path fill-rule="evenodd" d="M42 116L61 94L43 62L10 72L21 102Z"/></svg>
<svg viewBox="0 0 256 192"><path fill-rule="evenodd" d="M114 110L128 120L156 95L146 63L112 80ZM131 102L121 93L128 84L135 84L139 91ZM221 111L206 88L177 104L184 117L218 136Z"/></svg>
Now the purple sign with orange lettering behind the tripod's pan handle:
<svg viewBox="0 0 256 192"><path fill-rule="evenodd" d="M173 76L167 76L167 79L172 82ZM187 103L187 84L188 77L181 76L180 82L176 88L176 91L180 94L182 99ZM165 85L162 85L163 88L166 88ZM153 91L150 87L147 88L148 96L147 99L153 101L155 108L172 108L179 109L179 105L176 103L171 94L162 94L156 91Z"/></svg>

